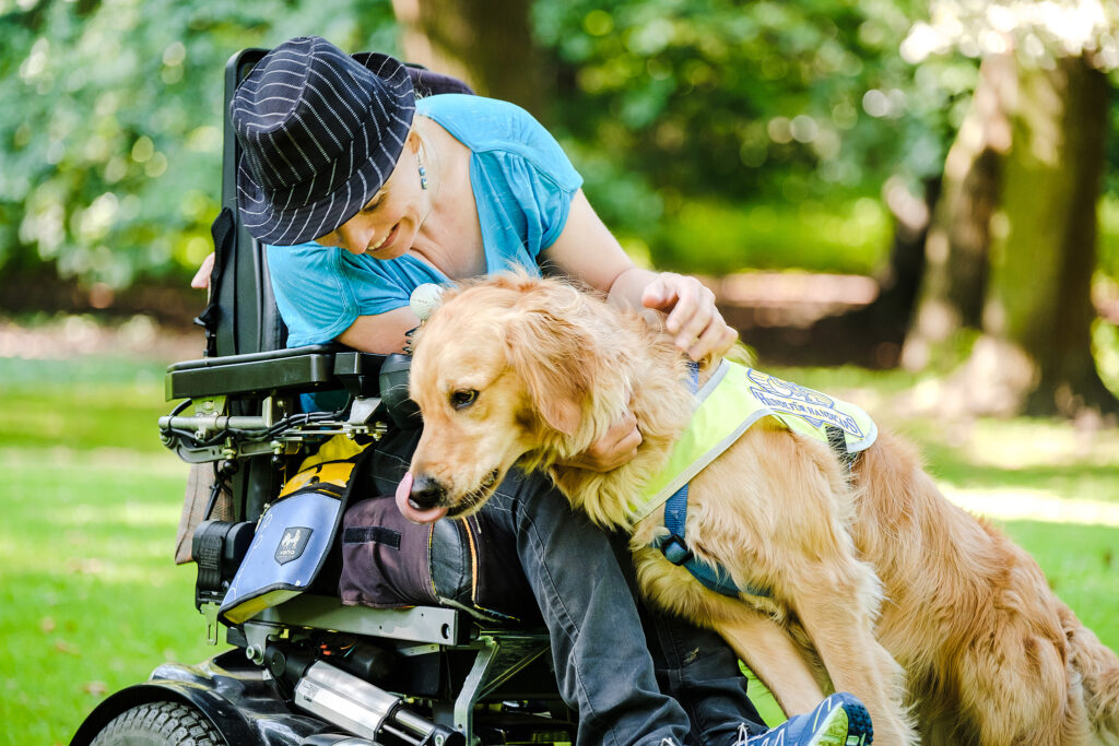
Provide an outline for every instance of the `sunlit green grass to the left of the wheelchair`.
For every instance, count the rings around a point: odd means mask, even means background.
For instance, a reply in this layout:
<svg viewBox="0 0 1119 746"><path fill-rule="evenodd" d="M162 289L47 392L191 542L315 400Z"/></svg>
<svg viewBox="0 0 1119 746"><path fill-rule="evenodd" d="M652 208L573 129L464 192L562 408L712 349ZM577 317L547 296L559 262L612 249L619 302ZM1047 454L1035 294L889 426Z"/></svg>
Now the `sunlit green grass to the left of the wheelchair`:
<svg viewBox="0 0 1119 746"><path fill-rule="evenodd" d="M0 744L68 743L107 693L215 652L171 561L162 370L0 358Z"/></svg>

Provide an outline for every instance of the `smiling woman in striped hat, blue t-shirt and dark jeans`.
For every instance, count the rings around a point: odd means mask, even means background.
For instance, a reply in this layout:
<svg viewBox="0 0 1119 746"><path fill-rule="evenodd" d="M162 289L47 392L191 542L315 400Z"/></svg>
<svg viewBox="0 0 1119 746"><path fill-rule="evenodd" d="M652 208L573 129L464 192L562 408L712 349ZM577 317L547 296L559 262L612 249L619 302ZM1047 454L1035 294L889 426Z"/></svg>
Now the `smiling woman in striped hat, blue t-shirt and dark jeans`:
<svg viewBox="0 0 1119 746"><path fill-rule="evenodd" d="M318 37L292 39L242 83L229 115L243 157L242 223L267 244L292 347L339 340L401 350L419 323L423 283L513 266L560 272L619 304L667 314L681 352L725 352L736 334L698 281L636 267L594 214L555 140L523 110L468 95L416 101L406 68L349 57ZM609 470L641 442L619 422L580 457ZM414 434L378 450L377 488L406 479ZM413 520L427 516L401 492ZM530 498L530 499L529 499ZM487 506L516 537L548 626L561 693L580 712L580 744L844 744L868 733L853 698L764 735L733 655L712 635L658 625L669 659L661 693L627 576L608 538L540 475L510 478ZM819 717L820 715L825 717ZM689 721L690 716L690 721ZM751 723L752 721L752 723Z"/></svg>

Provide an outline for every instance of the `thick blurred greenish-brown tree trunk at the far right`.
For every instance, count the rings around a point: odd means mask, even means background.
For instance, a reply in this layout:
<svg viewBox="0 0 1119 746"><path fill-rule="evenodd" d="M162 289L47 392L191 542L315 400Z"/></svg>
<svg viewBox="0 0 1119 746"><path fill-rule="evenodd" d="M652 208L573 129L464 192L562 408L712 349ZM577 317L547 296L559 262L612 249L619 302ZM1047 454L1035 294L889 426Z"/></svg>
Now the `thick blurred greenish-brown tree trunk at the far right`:
<svg viewBox="0 0 1119 746"><path fill-rule="evenodd" d="M982 340L1008 359L986 372L1027 414L1116 410L1090 340L1107 76L1076 57L1016 82Z"/></svg>

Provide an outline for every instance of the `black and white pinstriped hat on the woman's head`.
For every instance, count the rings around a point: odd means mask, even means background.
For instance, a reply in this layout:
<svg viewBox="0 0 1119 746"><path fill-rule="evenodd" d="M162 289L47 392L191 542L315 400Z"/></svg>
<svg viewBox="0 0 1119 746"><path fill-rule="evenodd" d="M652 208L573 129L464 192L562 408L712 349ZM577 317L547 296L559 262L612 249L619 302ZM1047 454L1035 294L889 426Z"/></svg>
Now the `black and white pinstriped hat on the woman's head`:
<svg viewBox="0 0 1119 746"><path fill-rule="evenodd" d="M283 43L229 103L242 150L242 224L281 246L330 233L393 172L414 112L412 81L398 60L350 57L317 36Z"/></svg>

